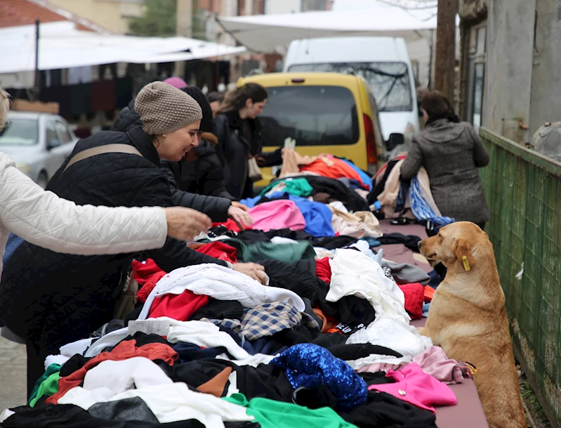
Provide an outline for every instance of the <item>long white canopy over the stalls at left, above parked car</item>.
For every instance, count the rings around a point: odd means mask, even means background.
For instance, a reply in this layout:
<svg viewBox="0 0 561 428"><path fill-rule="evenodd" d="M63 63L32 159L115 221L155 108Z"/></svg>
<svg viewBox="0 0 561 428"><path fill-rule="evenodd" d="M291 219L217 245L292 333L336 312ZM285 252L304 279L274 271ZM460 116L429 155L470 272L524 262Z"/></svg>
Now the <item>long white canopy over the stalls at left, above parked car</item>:
<svg viewBox="0 0 561 428"><path fill-rule="evenodd" d="M245 51L187 37L133 37L76 30L74 22L40 25L39 70L112 63L164 63L230 55ZM0 74L35 69L35 26L0 30Z"/></svg>

